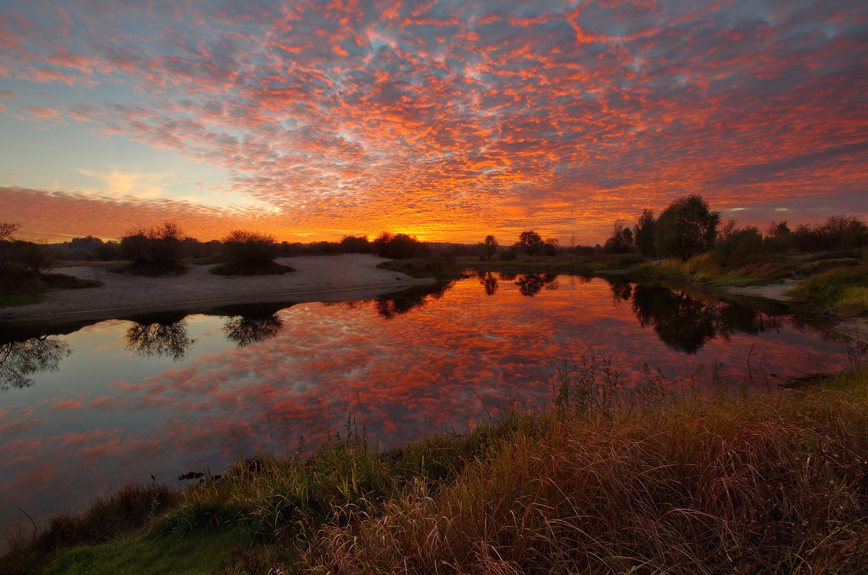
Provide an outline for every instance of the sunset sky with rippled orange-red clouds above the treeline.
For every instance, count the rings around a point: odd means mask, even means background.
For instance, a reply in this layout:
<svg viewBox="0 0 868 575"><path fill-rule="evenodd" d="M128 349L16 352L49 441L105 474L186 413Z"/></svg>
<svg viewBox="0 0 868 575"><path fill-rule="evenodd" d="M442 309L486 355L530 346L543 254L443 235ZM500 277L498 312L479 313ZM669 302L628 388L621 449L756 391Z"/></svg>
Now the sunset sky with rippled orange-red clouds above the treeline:
<svg viewBox="0 0 868 575"><path fill-rule="evenodd" d="M49 241L865 217L868 3L0 0L0 134Z"/></svg>

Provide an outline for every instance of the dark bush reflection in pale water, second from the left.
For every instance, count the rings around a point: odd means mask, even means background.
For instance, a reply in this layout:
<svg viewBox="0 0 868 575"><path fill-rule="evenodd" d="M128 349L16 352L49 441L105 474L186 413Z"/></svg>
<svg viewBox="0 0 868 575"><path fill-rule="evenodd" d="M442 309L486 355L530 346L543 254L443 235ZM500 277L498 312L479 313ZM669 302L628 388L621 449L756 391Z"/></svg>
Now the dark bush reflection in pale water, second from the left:
<svg viewBox="0 0 868 575"><path fill-rule="evenodd" d="M196 342L187 334L185 315L178 312L131 318L135 323L124 335L124 349L145 358L184 359Z"/></svg>

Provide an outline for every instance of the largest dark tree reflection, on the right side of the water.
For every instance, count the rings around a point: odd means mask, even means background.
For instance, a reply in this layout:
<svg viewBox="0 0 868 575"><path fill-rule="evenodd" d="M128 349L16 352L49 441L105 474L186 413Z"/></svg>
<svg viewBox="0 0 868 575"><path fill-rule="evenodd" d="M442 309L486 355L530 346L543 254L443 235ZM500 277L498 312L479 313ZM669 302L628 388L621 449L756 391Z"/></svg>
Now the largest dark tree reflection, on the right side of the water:
<svg viewBox="0 0 868 575"><path fill-rule="evenodd" d="M662 286L633 287L631 307L641 327L653 327L661 341L675 351L696 354L708 340L733 334L756 335L780 331L783 321L738 301L704 300ZM625 293L612 284L613 299Z"/></svg>

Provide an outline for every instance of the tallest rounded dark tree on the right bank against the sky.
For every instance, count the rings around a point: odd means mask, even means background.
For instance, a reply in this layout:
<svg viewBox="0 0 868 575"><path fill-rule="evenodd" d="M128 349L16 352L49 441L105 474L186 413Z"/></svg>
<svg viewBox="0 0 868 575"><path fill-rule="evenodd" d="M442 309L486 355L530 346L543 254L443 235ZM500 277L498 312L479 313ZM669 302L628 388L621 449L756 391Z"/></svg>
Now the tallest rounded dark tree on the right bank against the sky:
<svg viewBox="0 0 868 575"><path fill-rule="evenodd" d="M670 203L654 225L654 248L664 257L687 261L712 248L720 213L708 208L702 196L685 195Z"/></svg>

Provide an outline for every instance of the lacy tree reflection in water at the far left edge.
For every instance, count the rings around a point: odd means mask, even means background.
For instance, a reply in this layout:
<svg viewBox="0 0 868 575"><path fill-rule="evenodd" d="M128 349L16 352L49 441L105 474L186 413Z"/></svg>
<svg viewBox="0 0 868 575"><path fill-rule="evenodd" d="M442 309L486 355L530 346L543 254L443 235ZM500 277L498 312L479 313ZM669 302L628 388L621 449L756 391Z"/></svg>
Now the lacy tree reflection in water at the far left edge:
<svg viewBox="0 0 868 575"><path fill-rule="evenodd" d="M43 335L0 345L0 392L33 385L28 375L56 372L60 360L72 353L69 343L56 335Z"/></svg>

